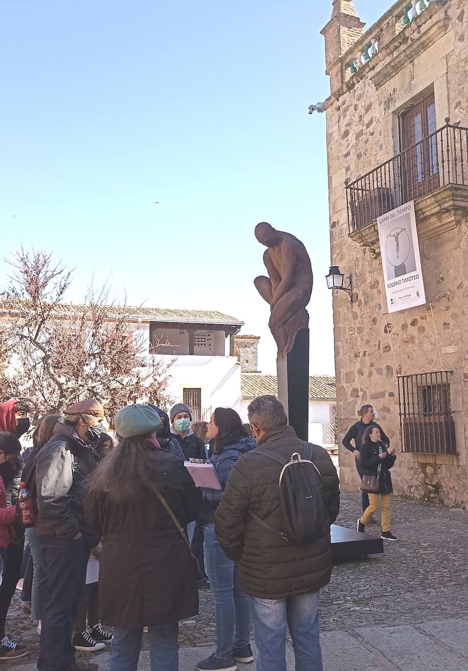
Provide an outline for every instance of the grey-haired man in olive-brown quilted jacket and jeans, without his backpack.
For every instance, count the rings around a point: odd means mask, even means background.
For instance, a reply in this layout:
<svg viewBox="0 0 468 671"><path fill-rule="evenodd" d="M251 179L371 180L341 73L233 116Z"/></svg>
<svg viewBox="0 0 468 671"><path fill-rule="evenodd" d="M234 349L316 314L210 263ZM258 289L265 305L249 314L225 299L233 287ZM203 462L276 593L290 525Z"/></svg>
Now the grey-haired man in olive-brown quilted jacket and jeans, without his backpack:
<svg viewBox="0 0 468 671"><path fill-rule="evenodd" d="M257 446L290 458L303 454L303 441L287 426L283 405L273 396L250 403L248 419ZM324 503L332 524L340 509L338 475L323 448L312 461L320 471ZM319 590L332 572L330 533L310 544L291 544L256 521L250 511L281 531L281 464L256 450L234 465L216 511L216 535L226 555L237 562L248 594L259 656L257 671L286 671L286 625L293 640L296 668L322 671Z"/></svg>

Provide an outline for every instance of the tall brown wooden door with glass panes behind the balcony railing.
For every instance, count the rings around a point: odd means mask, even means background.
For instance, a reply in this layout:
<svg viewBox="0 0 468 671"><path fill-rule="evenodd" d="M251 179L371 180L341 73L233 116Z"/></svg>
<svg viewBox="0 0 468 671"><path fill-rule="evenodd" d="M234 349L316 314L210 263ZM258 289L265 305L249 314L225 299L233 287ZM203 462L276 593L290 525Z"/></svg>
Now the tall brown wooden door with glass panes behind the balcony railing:
<svg viewBox="0 0 468 671"><path fill-rule="evenodd" d="M401 116L402 197L412 201L438 189L438 154L434 94Z"/></svg>

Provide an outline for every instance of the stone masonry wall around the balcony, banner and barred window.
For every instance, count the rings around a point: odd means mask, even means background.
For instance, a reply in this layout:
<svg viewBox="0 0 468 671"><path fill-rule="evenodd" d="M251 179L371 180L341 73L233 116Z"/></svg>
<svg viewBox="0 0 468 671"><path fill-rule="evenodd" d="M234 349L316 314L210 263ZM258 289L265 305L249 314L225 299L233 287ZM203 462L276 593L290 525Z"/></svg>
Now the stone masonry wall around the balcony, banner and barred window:
<svg viewBox="0 0 468 671"><path fill-rule="evenodd" d="M353 2L334 0L322 31L331 89L331 258L353 276L353 304L344 292L336 292L333 303L338 439L357 421L361 405L371 403L397 447L395 493L467 508L468 187L434 190L416 201L426 305L387 314L377 226L348 231L346 185L399 154L402 111L433 91L436 127L447 119L468 126L467 0L426 2L418 17L404 21L411 4L387 7L365 33ZM378 53L353 74L350 62L372 38ZM409 454L402 446L397 376L441 364L451 372L457 454ZM353 456L341 446L339 458L342 487L357 489Z"/></svg>

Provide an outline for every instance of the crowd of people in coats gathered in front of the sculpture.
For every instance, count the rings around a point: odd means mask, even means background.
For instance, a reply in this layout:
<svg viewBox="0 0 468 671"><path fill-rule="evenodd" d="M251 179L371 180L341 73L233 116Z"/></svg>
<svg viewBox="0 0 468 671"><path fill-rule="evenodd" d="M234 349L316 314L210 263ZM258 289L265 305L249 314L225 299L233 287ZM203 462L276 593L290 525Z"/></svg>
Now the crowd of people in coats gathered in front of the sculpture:
<svg viewBox="0 0 468 671"><path fill-rule="evenodd" d="M28 653L5 634L23 563L38 671L97 671L76 650L107 644L111 671L136 671L145 631L152 670L177 671L179 623L198 614L199 588L212 591L216 625L199 671L252 662L252 623L257 670L286 670L288 626L296 669L322 671L318 603L332 570L338 476L326 450L306 454L275 397L250 403L248 425L230 408L193 423L183 403L169 414L129 405L113 419L115 438L101 403L85 399L35 421L32 447L21 450L28 413L20 400L0 405L1 660ZM381 433L369 440L373 464ZM307 542L288 541L282 529L280 481L293 455L320 474L326 525ZM211 464L216 487L197 486L189 460ZM34 502L31 525L21 517L20 486ZM29 559L21 562L25 535ZM96 560L99 582L87 577Z"/></svg>

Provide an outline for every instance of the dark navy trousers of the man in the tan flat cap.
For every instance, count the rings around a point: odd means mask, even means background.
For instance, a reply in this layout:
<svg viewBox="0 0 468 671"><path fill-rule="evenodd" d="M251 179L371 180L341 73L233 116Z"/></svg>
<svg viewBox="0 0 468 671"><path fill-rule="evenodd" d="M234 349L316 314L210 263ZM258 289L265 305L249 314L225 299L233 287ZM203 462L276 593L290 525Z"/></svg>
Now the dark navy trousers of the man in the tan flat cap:
<svg viewBox="0 0 468 671"><path fill-rule="evenodd" d="M63 671L75 660L73 625L85 586L91 546L83 536L66 540L36 535L36 539L44 554L47 576L38 671Z"/></svg>

